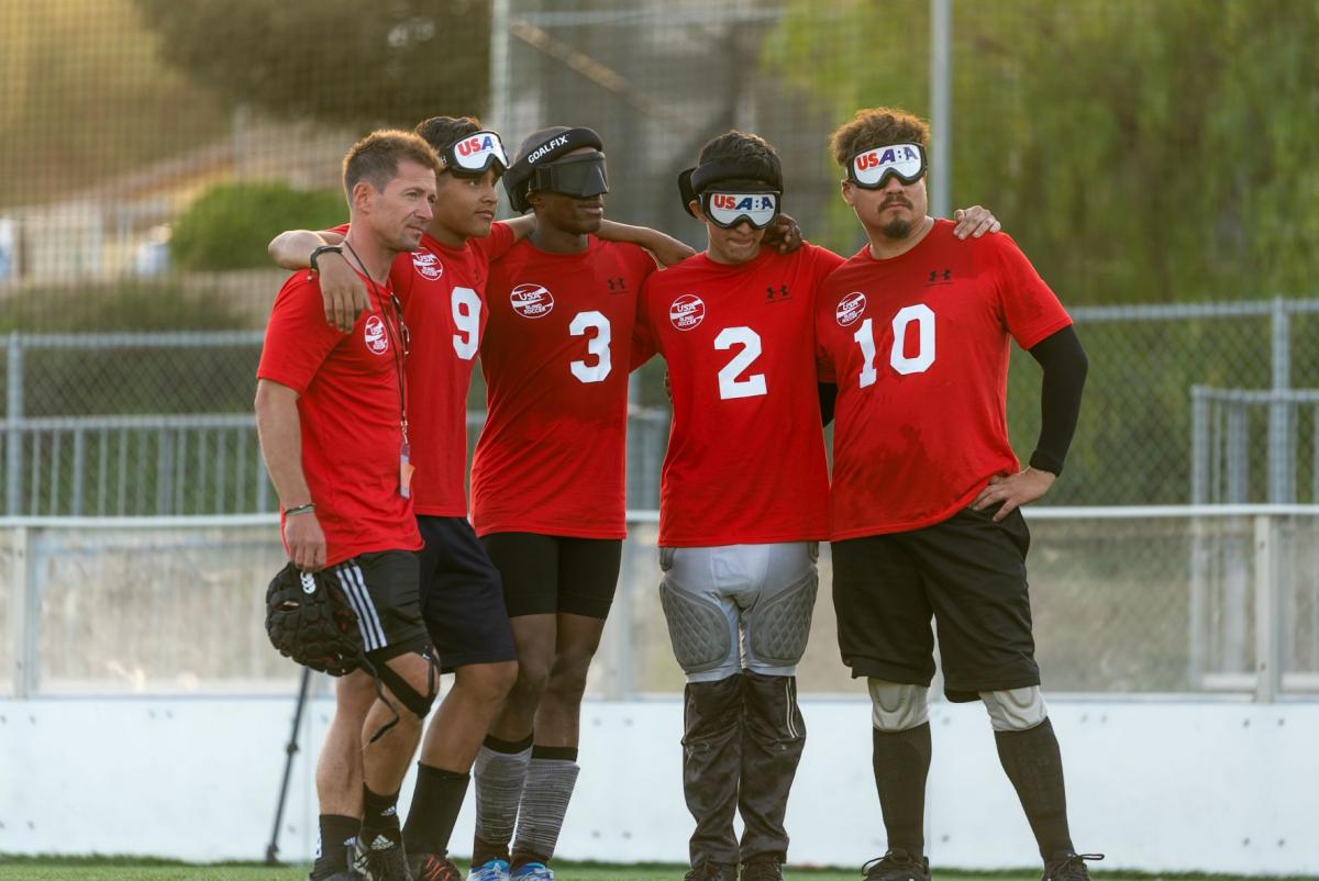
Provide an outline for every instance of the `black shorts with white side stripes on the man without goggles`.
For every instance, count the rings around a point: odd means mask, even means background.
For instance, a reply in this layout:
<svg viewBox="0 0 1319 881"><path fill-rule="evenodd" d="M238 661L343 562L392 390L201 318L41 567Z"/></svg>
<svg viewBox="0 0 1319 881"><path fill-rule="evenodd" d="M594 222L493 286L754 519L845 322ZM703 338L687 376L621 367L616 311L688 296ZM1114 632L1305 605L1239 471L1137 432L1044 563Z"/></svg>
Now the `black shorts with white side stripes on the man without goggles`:
<svg viewBox="0 0 1319 881"><path fill-rule="evenodd" d="M425 652L430 645L417 593L417 554L357 554L335 563L326 575L339 584L348 607L357 613L357 628L372 663Z"/></svg>

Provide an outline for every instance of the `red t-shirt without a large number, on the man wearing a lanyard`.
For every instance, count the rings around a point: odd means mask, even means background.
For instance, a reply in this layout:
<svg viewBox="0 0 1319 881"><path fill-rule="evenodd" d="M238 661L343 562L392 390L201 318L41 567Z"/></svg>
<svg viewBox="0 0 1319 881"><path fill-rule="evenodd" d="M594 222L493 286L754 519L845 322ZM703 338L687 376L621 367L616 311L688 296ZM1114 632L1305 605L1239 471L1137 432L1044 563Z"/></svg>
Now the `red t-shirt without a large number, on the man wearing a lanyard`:
<svg viewBox="0 0 1319 881"><path fill-rule="evenodd" d="M380 294L384 302L340 334L326 324L319 282L294 273L274 298L256 372L298 393L302 473L327 566L422 543L412 501L398 492L404 355L388 286Z"/></svg>

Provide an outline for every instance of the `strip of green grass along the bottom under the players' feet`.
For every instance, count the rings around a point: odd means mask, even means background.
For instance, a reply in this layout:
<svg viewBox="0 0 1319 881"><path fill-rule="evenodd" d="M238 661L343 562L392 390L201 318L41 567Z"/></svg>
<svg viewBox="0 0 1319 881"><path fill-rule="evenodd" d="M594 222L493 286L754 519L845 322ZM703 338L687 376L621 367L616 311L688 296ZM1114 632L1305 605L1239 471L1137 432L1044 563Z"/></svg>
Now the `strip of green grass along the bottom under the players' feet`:
<svg viewBox="0 0 1319 881"><path fill-rule="evenodd" d="M558 881L681 881L685 866L555 865ZM861 881L859 869L790 868L787 881ZM83 860L13 859L0 856L0 881L306 881L307 866L186 865L162 861L95 857ZM1039 872L971 874L935 872L946 881L1039 881ZM1233 876L1150 876L1095 872L1096 881L1229 881ZM1298 878L1295 881L1306 881ZM1315 881L1315 880L1310 880Z"/></svg>

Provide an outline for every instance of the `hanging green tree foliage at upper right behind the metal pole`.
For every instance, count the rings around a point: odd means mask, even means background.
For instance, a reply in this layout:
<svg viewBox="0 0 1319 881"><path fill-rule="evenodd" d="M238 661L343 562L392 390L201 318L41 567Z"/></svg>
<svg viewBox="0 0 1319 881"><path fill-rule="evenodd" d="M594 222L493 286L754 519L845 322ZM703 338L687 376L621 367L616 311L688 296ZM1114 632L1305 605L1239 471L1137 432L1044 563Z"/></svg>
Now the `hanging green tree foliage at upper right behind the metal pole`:
<svg viewBox="0 0 1319 881"><path fill-rule="evenodd" d="M764 66L838 123L877 104L926 116L929 7L791 0ZM931 174L954 204L991 206L1067 302L1308 293L1319 3L952 9L952 169ZM855 224L836 206L830 240Z"/></svg>

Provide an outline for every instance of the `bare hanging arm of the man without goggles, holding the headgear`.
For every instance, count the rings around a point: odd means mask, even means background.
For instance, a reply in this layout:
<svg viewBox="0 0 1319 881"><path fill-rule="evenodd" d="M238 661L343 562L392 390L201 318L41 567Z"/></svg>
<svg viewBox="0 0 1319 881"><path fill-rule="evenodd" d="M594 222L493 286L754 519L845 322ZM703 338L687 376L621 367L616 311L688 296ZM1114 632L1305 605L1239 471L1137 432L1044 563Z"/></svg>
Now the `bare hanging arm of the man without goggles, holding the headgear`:
<svg viewBox="0 0 1319 881"><path fill-rule="evenodd" d="M302 473L302 423L298 419L298 393L269 380L256 384L256 431L261 442L265 470L285 510L311 504L311 489ZM326 564L326 537L317 512L289 514L284 524L289 559L306 572Z"/></svg>

